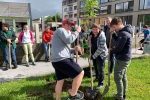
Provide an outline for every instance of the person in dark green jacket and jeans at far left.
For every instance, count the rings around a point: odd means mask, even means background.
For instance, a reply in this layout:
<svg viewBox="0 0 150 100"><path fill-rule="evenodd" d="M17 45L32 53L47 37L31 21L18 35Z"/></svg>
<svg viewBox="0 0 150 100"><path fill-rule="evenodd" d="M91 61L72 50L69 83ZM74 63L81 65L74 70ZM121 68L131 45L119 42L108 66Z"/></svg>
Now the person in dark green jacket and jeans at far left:
<svg viewBox="0 0 150 100"><path fill-rule="evenodd" d="M9 68L9 44L11 47L11 58L12 58L12 64L14 65L13 68L17 68L17 61L16 61L16 43L15 43L15 33L12 31L9 31L9 25L6 23L2 24L2 31L0 34L1 38L1 47L3 52L3 60L6 64L6 68L4 70L8 70Z"/></svg>

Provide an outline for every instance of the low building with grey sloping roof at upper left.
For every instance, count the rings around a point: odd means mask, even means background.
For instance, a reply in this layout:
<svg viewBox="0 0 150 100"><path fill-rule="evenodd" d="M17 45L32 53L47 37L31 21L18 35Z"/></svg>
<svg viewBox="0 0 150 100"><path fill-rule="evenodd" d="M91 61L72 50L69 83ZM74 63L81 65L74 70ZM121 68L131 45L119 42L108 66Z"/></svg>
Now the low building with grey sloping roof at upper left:
<svg viewBox="0 0 150 100"><path fill-rule="evenodd" d="M8 23L18 32L22 26L32 26L30 3L0 2L0 24Z"/></svg>

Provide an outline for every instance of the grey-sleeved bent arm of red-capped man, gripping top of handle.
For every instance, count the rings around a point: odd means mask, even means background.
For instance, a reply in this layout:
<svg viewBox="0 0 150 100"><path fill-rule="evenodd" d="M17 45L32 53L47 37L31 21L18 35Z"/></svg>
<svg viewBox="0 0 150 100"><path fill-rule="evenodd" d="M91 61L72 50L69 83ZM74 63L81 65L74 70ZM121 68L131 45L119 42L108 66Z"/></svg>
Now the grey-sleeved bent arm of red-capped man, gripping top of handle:
<svg viewBox="0 0 150 100"><path fill-rule="evenodd" d="M67 31L62 31L60 29L58 29L57 31L58 32L56 32L56 33L59 36L59 38L61 38L61 40L64 41L66 44L73 43L79 35L78 32L73 32L73 33L69 34Z"/></svg>

